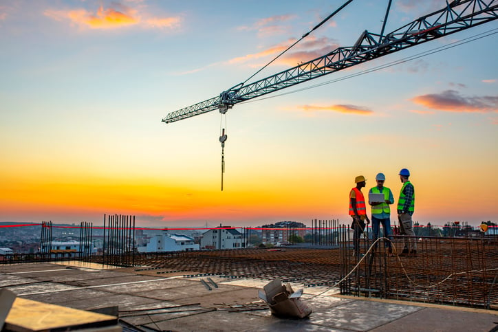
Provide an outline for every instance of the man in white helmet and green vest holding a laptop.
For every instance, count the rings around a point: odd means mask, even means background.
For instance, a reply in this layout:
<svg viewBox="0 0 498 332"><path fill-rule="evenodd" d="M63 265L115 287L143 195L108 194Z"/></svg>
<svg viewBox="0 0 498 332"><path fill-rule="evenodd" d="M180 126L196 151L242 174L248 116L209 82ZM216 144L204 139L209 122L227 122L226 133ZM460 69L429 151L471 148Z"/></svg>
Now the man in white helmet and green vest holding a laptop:
<svg viewBox="0 0 498 332"><path fill-rule="evenodd" d="M374 242L379 237L380 224L382 223L382 228L384 228L384 236L387 239L391 239L391 208L389 205L394 203L393 193L391 189L384 186L384 181L386 177L383 173L378 173L376 175L377 186L369 190L372 194L382 194L384 199L382 201L370 201L371 206L371 229L374 233ZM376 245L377 247L377 245ZM393 248L391 247L391 241L385 241L385 247L388 248L389 254L392 254Z"/></svg>

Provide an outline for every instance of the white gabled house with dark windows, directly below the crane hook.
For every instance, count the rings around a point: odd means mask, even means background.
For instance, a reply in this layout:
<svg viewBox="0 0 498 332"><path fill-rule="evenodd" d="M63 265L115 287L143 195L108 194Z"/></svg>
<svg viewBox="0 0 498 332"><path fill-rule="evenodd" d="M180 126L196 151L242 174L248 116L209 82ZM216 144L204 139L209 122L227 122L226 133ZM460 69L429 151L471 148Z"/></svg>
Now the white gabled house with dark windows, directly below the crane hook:
<svg viewBox="0 0 498 332"><path fill-rule="evenodd" d="M242 234L230 226L219 225L202 234L201 249L240 249L246 247Z"/></svg>

